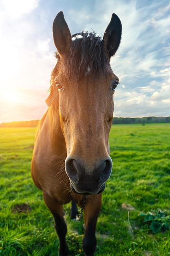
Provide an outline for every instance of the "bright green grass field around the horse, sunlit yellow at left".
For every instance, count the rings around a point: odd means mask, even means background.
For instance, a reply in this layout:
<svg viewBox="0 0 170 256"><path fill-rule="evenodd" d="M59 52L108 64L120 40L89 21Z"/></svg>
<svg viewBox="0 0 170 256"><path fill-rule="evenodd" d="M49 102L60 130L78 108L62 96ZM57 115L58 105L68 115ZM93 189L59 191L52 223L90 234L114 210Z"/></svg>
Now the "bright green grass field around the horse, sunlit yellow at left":
<svg viewBox="0 0 170 256"><path fill-rule="evenodd" d="M58 238L30 163L36 128L0 128L0 256L56 256ZM114 125L113 173L103 192L95 256L170 255L170 124ZM64 206L71 256L83 220Z"/></svg>

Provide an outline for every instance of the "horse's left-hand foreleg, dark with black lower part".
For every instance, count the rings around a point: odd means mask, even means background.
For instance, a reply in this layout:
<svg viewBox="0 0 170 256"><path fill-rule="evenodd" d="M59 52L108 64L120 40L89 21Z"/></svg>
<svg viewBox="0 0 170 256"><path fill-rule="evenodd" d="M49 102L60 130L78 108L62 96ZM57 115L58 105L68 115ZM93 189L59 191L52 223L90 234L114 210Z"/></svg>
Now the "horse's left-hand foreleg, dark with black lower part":
<svg viewBox="0 0 170 256"><path fill-rule="evenodd" d="M60 256L68 256L68 246L66 244L66 233L67 233L67 226L64 220L64 211L63 206L58 203L55 198L51 198L46 193L43 193L44 202L46 206L49 208L51 213L53 214L55 220L55 229L58 234L58 238L60 240L60 248L59 253Z"/></svg>

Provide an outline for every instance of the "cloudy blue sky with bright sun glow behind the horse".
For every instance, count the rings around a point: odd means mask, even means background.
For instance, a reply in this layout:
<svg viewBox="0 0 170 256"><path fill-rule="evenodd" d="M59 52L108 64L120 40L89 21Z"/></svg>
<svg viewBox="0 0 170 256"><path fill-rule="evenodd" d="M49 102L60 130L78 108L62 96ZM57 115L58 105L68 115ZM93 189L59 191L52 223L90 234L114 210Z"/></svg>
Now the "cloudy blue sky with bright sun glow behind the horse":
<svg viewBox="0 0 170 256"><path fill-rule="evenodd" d="M112 13L122 23L111 58L120 84L114 117L170 116L169 0L0 0L0 123L40 119L47 109L59 11L71 34L100 36Z"/></svg>

